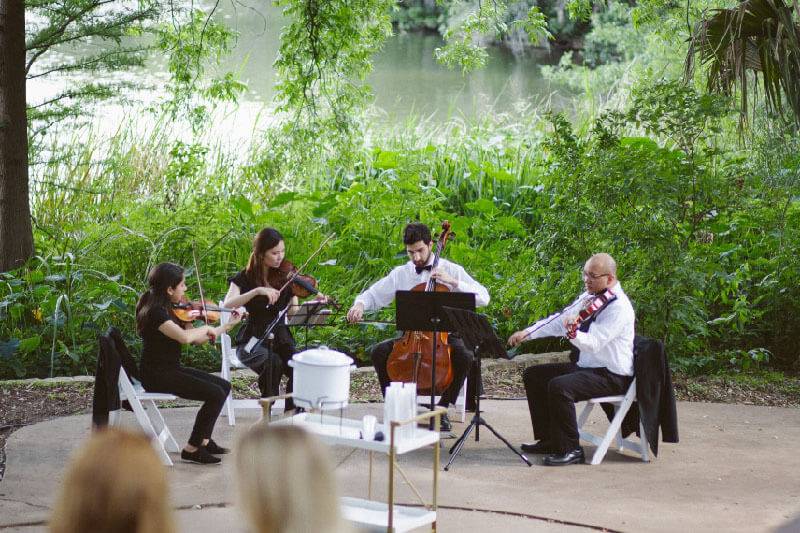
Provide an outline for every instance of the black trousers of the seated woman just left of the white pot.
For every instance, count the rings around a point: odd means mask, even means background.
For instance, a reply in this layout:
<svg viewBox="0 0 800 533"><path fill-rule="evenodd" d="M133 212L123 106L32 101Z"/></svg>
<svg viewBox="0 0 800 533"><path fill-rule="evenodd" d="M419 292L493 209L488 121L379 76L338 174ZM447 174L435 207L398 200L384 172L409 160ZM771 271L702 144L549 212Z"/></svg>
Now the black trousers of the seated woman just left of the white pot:
<svg viewBox="0 0 800 533"><path fill-rule="evenodd" d="M236 349L236 356L253 372L258 374L258 390L261 397L277 396L280 393L281 377L289 378L286 392L294 389L294 372L289 366L292 356L297 353L294 342L276 342L277 339L266 341L253 352L245 353L244 346ZM286 401L286 408L292 409L294 402L291 398Z"/></svg>

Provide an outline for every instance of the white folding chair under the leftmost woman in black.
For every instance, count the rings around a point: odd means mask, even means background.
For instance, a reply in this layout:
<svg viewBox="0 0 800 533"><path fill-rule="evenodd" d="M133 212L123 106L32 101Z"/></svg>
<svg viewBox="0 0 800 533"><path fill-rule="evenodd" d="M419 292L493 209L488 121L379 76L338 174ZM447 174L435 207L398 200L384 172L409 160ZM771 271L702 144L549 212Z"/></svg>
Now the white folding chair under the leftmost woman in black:
<svg viewBox="0 0 800 533"><path fill-rule="evenodd" d="M177 400L178 397L160 392L146 392L141 384L134 385L131 382L122 367L119 369L117 383L119 385L120 401L128 400L133 409L133 414L136 416L136 421L145 434L150 437L161 461L167 466L172 466L172 459L170 459L167 452L178 452L180 449L172 436L172 432L167 427L167 423L164 422L161 411L156 407L156 402ZM149 415L148 412L150 413ZM109 413L110 425L116 426L119 424L119 413L120 411Z"/></svg>

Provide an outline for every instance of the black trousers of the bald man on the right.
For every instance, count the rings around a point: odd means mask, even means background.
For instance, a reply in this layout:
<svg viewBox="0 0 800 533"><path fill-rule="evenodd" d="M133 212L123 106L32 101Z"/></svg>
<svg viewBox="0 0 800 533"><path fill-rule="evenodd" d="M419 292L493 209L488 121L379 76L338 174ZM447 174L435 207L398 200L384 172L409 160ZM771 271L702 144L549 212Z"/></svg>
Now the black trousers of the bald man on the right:
<svg viewBox="0 0 800 533"><path fill-rule="evenodd" d="M580 368L575 363L528 367L522 374L533 436L549 441L561 453L579 446L575 402L625 394L633 381L607 368Z"/></svg>

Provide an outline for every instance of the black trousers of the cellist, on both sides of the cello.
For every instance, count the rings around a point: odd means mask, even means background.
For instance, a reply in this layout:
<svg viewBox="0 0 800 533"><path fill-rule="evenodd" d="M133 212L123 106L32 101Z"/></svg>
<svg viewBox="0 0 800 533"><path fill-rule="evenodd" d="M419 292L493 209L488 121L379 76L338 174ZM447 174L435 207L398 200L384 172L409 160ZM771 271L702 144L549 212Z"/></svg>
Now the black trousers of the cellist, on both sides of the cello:
<svg viewBox="0 0 800 533"><path fill-rule="evenodd" d="M372 364L375 366L375 372L378 374L378 381L381 384L381 394L386 396L386 387L389 386L389 373L386 371L386 361L389 359L389 354L392 353L392 348L397 339L389 339L376 344L370 352ZM439 399L439 405L447 407L451 403L456 403L458 393L461 390L461 384L464 378L469 374L467 380L467 409L474 410L475 387L478 383L476 379L477 368L474 365L475 356L464 345L464 341L455 335L448 335L448 344L450 345L450 363L453 368L453 382L442 393Z"/></svg>

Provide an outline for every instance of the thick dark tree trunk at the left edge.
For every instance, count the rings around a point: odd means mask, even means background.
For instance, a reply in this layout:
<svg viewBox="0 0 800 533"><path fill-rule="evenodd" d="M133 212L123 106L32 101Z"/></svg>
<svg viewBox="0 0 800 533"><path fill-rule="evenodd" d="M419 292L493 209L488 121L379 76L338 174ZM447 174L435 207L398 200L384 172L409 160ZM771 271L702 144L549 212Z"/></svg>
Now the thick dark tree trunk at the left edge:
<svg viewBox="0 0 800 533"><path fill-rule="evenodd" d="M0 0L0 272L33 255L25 116L25 2Z"/></svg>

